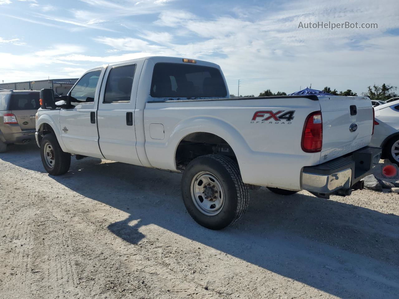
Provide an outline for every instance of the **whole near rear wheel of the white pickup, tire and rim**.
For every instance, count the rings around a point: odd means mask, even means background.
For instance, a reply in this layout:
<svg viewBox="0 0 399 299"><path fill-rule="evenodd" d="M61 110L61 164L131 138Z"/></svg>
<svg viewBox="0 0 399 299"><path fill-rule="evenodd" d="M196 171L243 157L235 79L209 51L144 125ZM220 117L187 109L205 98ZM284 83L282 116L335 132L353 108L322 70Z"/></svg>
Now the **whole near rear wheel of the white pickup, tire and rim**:
<svg viewBox="0 0 399 299"><path fill-rule="evenodd" d="M219 230L233 224L248 207L248 189L238 165L223 155L204 155L191 161L182 177L182 197L198 224Z"/></svg>

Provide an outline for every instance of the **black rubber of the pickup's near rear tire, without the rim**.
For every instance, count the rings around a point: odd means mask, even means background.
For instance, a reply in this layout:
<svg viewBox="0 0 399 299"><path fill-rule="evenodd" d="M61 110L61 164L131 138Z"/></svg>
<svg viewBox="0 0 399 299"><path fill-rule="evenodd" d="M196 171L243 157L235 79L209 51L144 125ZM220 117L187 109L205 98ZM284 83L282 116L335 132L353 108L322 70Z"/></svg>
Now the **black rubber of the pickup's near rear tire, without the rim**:
<svg viewBox="0 0 399 299"><path fill-rule="evenodd" d="M192 182L203 172L213 175L223 190L223 193L218 193L215 189L215 194L221 194L220 199L223 196L223 205L217 214L214 215L207 215L201 212L196 203L194 203L196 197L192 196L193 186L199 185L199 183L193 183L192 186ZM199 179L200 181L201 179ZM215 186L213 185L213 187ZM212 230L220 230L239 220L245 210L247 210L249 201L248 189L241 179L237 163L223 155L204 155L194 159L187 165L182 177L182 197L184 205L192 218L198 224ZM203 201L207 201L206 198ZM212 198L209 201L211 200Z"/></svg>

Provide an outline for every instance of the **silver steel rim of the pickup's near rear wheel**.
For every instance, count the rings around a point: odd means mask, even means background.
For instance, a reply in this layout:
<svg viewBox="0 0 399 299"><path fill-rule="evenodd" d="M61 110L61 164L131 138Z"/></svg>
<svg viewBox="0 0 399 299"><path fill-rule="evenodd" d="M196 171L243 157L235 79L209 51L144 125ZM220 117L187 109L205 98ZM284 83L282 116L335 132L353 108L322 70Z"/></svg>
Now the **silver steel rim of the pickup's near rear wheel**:
<svg viewBox="0 0 399 299"><path fill-rule="evenodd" d="M200 171L191 181L191 198L196 208L207 216L223 209L224 191L219 179L208 171Z"/></svg>

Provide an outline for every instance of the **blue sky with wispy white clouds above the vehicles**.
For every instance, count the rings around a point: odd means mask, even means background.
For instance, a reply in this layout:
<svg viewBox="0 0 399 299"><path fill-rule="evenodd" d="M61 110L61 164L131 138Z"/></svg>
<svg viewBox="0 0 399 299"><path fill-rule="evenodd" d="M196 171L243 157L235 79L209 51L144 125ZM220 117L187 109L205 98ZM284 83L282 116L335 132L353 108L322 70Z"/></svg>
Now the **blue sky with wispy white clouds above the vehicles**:
<svg viewBox="0 0 399 299"><path fill-rule="evenodd" d="M329 21L378 28L298 28ZM397 0L0 0L0 25L0 82L166 55L221 65L233 94L399 85Z"/></svg>

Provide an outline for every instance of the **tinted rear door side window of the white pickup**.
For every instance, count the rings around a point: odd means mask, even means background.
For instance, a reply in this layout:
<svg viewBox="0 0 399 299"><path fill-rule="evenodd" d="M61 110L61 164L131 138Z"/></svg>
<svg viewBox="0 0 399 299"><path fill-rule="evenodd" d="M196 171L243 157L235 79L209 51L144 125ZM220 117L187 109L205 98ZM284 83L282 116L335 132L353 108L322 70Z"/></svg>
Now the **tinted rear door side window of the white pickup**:
<svg viewBox="0 0 399 299"><path fill-rule="evenodd" d="M109 71L104 103L130 101L136 65L121 65Z"/></svg>

